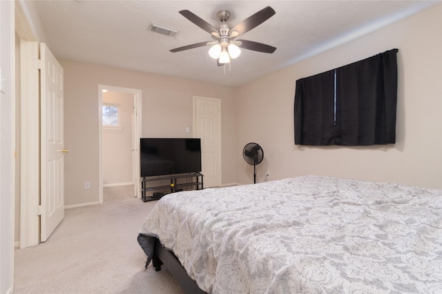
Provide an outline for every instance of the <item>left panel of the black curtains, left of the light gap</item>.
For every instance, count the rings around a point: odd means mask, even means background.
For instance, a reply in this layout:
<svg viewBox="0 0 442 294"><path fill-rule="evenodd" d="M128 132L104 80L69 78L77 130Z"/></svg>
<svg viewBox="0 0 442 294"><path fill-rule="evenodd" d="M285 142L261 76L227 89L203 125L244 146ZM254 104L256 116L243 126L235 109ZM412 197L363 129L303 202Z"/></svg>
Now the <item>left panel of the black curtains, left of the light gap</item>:
<svg viewBox="0 0 442 294"><path fill-rule="evenodd" d="M334 70L296 81L295 144L334 144Z"/></svg>

